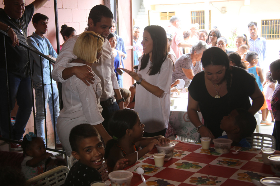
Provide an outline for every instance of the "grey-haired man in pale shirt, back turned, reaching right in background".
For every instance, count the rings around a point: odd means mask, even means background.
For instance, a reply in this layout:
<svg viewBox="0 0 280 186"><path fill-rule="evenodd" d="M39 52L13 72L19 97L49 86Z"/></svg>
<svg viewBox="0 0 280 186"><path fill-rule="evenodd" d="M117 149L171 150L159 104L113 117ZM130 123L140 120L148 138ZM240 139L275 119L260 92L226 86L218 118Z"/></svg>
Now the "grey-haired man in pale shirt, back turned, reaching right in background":
<svg viewBox="0 0 280 186"><path fill-rule="evenodd" d="M169 23L170 25L167 27L166 33L172 34L171 48L174 51L176 58L179 59L179 57L183 55L182 48L192 47L192 45L184 41L183 32L179 29L181 24L179 17L173 15L170 18Z"/></svg>

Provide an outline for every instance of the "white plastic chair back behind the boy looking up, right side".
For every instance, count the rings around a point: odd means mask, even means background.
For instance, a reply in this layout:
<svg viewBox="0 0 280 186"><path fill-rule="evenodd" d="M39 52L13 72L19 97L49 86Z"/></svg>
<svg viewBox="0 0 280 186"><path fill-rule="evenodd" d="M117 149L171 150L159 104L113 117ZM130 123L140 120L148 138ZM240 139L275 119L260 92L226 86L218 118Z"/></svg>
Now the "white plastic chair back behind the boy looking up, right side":
<svg viewBox="0 0 280 186"><path fill-rule="evenodd" d="M273 148L276 147L276 140L272 135L254 132L246 138L251 147L254 148Z"/></svg>

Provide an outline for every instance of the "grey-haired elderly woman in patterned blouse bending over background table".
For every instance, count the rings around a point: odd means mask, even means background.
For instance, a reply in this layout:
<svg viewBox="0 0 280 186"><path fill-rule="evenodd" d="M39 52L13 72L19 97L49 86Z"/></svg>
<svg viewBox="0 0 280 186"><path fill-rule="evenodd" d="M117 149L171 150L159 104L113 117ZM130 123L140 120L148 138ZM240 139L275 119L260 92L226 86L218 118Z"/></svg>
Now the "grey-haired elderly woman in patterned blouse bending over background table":
<svg viewBox="0 0 280 186"><path fill-rule="evenodd" d="M175 71L172 73L172 82L176 79L184 79L188 87L194 75L202 71L201 57L203 51L208 48L204 41L198 41L192 46L192 52L182 55L175 63Z"/></svg>

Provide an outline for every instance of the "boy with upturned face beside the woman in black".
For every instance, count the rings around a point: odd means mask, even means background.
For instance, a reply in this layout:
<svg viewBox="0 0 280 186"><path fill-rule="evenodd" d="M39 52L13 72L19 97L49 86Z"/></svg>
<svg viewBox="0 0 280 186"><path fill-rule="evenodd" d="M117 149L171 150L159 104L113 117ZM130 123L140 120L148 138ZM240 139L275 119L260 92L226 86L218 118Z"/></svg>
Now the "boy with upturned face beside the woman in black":
<svg viewBox="0 0 280 186"><path fill-rule="evenodd" d="M221 120L220 128L226 132L226 135L218 138L231 139L234 146L251 147L246 138L253 134L256 126L256 118L249 111L236 108Z"/></svg>

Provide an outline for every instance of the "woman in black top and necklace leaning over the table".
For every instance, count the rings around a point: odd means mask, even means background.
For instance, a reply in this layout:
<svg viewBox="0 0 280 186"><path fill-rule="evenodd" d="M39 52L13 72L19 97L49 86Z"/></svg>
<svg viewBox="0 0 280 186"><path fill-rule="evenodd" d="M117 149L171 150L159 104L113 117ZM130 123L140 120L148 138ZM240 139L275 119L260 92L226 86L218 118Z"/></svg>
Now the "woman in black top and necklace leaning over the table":
<svg viewBox="0 0 280 186"><path fill-rule="evenodd" d="M254 115L262 107L264 96L249 73L229 65L229 58L222 49L207 49L201 62L204 71L194 76L188 88L188 115L201 137L214 139L222 135L220 122L224 116L236 108L244 108ZM204 125L197 114L199 109Z"/></svg>

